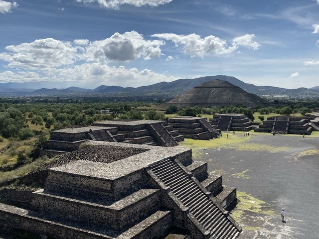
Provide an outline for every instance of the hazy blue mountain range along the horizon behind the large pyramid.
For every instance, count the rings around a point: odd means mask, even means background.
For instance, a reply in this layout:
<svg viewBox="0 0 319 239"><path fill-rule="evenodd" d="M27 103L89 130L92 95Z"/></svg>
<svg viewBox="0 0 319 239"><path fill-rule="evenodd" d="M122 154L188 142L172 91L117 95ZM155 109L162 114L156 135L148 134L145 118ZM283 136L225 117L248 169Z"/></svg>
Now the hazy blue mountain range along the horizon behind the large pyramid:
<svg viewBox="0 0 319 239"><path fill-rule="evenodd" d="M3 83L0 84L1 96L72 96L72 95L121 95L121 96L169 96L174 97L180 95L189 89L201 85L211 80L224 80L242 88L243 90L256 94L258 96L265 95L288 95L291 97L319 97L319 86L313 88L285 89L273 86L256 86L245 83L232 76L205 76L195 79L179 79L172 82L160 82L149 86L121 87L121 86L105 86L101 85L95 89L85 89L80 87L68 87L65 89L44 88L47 84L55 85L57 83ZM68 82L70 85L71 82Z"/></svg>

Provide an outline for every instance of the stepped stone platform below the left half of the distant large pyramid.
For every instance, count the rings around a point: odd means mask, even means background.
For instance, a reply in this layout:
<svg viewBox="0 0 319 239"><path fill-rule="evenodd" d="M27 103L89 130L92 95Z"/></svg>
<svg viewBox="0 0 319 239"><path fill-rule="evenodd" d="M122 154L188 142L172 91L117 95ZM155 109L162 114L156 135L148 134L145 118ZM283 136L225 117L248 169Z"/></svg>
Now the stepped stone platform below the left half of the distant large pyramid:
<svg viewBox="0 0 319 239"><path fill-rule="evenodd" d="M176 117L169 119L168 125L185 138L209 140L219 137L220 133L202 117Z"/></svg>

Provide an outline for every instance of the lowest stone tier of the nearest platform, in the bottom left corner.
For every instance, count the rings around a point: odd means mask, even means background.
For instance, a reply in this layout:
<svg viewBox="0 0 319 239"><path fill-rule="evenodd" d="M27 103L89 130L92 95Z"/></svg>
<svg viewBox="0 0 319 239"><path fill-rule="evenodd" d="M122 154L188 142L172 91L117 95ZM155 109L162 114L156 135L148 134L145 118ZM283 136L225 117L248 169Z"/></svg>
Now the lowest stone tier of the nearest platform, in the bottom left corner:
<svg viewBox="0 0 319 239"><path fill-rule="evenodd" d="M157 239L170 232L172 214L170 211L156 211L123 232L0 204L0 222L41 235L51 234L58 239Z"/></svg>

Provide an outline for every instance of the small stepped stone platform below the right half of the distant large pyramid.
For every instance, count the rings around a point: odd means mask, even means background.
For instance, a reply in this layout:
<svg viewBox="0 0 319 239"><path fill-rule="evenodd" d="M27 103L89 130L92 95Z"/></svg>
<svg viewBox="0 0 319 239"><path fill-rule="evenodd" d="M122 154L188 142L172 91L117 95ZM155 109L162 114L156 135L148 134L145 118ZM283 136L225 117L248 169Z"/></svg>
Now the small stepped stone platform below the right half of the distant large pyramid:
<svg viewBox="0 0 319 239"><path fill-rule="evenodd" d="M250 131L252 121L242 114L219 114L209 119L209 123L222 131Z"/></svg>

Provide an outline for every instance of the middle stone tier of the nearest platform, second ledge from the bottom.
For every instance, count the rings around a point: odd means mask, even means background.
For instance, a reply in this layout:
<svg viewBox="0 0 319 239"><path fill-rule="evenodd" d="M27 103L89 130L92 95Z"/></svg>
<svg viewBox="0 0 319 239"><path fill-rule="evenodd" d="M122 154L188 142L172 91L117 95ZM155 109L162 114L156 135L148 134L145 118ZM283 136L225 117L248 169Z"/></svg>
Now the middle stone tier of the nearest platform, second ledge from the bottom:
<svg viewBox="0 0 319 239"><path fill-rule="evenodd" d="M40 189L33 193L32 206L57 218L123 230L158 211L159 202L160 191L157 189L141 189L116 202Z"/></svg>

